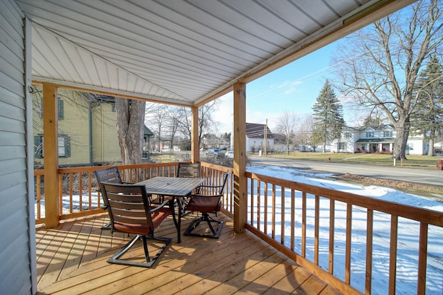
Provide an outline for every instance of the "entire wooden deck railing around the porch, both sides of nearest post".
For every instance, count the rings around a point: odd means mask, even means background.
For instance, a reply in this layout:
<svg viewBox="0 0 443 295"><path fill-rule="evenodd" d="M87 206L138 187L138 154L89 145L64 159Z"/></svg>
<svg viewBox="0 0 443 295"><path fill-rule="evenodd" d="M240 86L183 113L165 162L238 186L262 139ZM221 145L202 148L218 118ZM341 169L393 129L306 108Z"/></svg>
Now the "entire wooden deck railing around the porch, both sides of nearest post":
<svg viewBox="0 0 443 295"><path fill-rule="evenodd" d="M118 167L125 181L136 182L155 176L174 176L177 164ZM105 166L59 170L60 219L103 213L93 176L93 171L103 168ZM230 173L230 178L222 211L233 218L233 170L201 163L201 175L207 179L207 184L219 184L224 173ZM432 255L428 254L429 242L434 240L435 233L440 233L437 243L440 242L438 247L442 246L443 213L255 173L246 173L246 178L246 228L319 278L347 293L371 294L372 285L379 283L372 281L373 269L380 271L376 269L379 265L374 265L374 253L377 251L377 257L386 256L388 261L386 293L395 294L397 268L401 263L397 249L404 238L399 238L397 233L401 227L410 227L407 238L417 240L417 294L426 293L426 269L430 267L428 257ZM44 222L41 197L44 196L43 184L43 171L35 171L37 224ZM359 227L361 222L364 224L363 229ZM379 223L386 230L375 231ZM354 231L363 231L365 239L352 240ZM379 240L385 243L383 247L378 244ZM365 261L352 260L355 251L364 251ZM360 284L364 287L356 286L354 276L362 277L363 283ZM442 282L438 287L440 293L441 285Z"/></svg>

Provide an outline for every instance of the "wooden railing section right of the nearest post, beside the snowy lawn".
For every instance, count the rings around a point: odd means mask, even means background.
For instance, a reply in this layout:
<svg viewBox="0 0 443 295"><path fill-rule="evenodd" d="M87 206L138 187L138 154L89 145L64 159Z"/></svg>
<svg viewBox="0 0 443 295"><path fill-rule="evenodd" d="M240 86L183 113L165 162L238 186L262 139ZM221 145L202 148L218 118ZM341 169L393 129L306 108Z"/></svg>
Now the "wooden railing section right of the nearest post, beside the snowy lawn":
<svg viewBox="0 0 443 295"><path fill-rule="evenodd" d="M406 272L416 272L417 294L426 293L426 282L427 287L437 288L436 294L442 293L442 276L430 283L426 269L435 267L435 263L440 263L441 269L443 213L255 173L246 173L246 178L246 228L334 287L340 285L338 288L343 289L344 283L346 293L371 294L372 285L381 283L372 282L376 255L387 261L387 265L378 265L381 261L377 261L375 270L388 268L388 286L383 293L396 294L398 269L406 269L401 263L414 258L416 267ZM383 230L375 231L379 225ZM406 228L408 236L399 237L401 227L403 232ZM363 240L353 240L357 231ZM408 251L408 257L400 259L400 244L415 241L415 253ZM428 262L433 257L428 255L428 242L432 241L432 251L440 252L433 266ZM359 251L364 253L365 261L352 259L352 254ZM352 280L354 275L361 277L359 283Z"/></svg>

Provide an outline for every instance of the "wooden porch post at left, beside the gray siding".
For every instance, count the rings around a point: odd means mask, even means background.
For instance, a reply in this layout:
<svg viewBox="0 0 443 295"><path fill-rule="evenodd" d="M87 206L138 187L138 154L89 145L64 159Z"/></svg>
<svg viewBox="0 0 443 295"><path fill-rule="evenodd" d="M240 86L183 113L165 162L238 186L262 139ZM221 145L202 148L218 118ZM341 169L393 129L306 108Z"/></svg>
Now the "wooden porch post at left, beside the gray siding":
<svg viewBox="0 0 443 295"><path fill-rule="evenodd" d="M59 223L57 87L43 84L44 208L46 227Z"/></svg>

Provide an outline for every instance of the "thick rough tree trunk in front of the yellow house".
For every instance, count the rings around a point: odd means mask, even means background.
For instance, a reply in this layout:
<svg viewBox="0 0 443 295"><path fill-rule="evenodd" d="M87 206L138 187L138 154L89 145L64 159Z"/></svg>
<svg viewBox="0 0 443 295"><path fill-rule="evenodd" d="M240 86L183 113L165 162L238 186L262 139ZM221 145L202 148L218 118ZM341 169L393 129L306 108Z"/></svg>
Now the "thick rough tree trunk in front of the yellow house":
<svg viewBox="0 0 443 295"><path fill-rule="evenodd" d="M116 97L118 144L123 164L140 164L143 155L145 102Z"/></svg>

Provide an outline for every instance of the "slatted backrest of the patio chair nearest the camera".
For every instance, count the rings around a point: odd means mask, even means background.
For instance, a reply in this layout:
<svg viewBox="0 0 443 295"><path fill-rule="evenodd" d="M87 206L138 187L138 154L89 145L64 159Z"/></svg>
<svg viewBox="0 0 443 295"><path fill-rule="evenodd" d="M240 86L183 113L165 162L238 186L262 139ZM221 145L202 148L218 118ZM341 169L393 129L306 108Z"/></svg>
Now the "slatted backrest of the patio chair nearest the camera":
<svg viewBox="0 0 443 295"><path fill-rule="evenodd" d="M101 182L112 230L130 234L153 234L150 200L144 185Z"/></svg>

